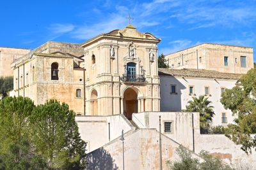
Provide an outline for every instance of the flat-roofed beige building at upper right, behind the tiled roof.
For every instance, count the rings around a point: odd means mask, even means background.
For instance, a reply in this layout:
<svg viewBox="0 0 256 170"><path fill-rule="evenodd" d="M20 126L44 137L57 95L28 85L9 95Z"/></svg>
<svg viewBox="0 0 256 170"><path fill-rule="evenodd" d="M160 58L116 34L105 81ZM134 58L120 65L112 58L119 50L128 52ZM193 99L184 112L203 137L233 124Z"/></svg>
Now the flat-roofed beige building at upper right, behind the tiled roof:
<svg viewBox="0 0 256 170"><path fill-rule="evenodd" d="M166 55L170 68L243 73L253 68L253 48L203 43Z"/></svg>

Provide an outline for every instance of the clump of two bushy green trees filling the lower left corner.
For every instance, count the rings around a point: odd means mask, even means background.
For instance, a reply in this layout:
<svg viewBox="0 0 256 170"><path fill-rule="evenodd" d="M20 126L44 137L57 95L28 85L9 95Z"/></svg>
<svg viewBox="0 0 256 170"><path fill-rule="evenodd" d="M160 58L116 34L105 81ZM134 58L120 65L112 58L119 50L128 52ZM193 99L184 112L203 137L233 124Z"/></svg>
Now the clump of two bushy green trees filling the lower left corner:
<svg viewBox="0 0 256 170"><path fill-rule="evenodd" d="M85 147L67 104L0 101L0 169L84 169Z"/></svg>

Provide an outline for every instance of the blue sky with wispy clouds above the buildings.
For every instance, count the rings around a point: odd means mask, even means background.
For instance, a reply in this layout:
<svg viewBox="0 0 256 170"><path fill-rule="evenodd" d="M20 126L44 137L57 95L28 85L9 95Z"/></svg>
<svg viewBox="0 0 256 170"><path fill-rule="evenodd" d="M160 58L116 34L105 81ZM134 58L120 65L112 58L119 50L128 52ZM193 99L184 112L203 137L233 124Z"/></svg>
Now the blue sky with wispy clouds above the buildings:
<svg viewBox="0 0 256 170"><path fill-rule="evenodd" d="M255 48L255 9L256 0L1 1L0 46L33 49L46 41L82 43L124 28L131 14L138 31L162 39L159 53L205 42Z"/></svg>

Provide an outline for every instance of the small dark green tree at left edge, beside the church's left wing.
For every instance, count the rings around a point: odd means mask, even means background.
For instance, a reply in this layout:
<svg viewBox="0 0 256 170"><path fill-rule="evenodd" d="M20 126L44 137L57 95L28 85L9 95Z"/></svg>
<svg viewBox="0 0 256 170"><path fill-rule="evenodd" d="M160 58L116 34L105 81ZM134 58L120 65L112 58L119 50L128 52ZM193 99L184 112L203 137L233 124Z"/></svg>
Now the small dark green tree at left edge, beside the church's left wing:
<svg viewBox="0 0 256 170"><path fill-rule="evenodd" d="M13 90L13 76L0 77L0 96L6 97Z"/></svg>

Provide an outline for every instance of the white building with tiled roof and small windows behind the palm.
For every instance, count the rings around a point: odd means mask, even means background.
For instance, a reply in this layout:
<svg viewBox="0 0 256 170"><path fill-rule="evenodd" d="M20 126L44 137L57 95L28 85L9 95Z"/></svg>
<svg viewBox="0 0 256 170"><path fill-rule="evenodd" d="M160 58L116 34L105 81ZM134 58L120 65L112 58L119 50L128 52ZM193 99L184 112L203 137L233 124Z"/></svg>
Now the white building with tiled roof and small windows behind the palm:
<svg viewBox="0 0 256 170"><path fill-rule="evenodd" d="M214 106L211 125L234 123L236 115L220 103L225 89L232 89L243 74L221 73L205 69L159 69L161 111L186 110L193 97L205 96Z"/></svg>

